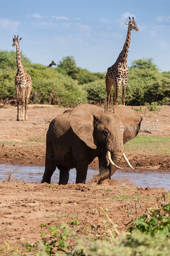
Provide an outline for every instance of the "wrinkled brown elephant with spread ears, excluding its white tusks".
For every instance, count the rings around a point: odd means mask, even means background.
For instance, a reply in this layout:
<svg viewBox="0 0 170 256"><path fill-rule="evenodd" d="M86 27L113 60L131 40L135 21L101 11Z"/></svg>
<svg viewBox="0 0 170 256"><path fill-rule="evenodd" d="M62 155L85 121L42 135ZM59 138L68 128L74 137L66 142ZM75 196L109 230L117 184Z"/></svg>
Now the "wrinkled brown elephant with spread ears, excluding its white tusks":
<svg viewBox="0 0 170 256"><path fill-rule="evenodd" d="M72 110L54 118L47 132L45 172L43 182L50 183L56 167L60 170L59 184L67 184L69 171L76 168L76 183L85 183L88 165L95 157L99 159L100 173L95 181L109 178L116 167L107 164L107 150L112 161L119 165L123 155L123 144L133 139L140 127L142 117L133 109L123 105L113 106L113 112L103 108L80 104ZM120 125L126 130L120 131ZM133 131L128 131L128 126Z"/></svg>

